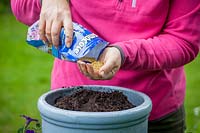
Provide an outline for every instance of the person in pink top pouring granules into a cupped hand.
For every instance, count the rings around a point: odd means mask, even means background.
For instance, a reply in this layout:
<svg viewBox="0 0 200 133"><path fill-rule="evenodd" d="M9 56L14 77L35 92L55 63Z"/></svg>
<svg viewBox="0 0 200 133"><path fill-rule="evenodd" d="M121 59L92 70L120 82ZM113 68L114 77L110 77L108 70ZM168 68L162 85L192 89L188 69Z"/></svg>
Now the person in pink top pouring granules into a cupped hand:
<svg viewBox="0 0 200 133"><path fill-rule="evenodd" d="M55 46L62 27L70 46L72 21L110 42L99 72L55 59L51 89L97 84L141 91L153 103L149 132L184 132L183 66L199 53L199 0L11 0L11 7L28 26L39 19L41 39Z"/></svg>

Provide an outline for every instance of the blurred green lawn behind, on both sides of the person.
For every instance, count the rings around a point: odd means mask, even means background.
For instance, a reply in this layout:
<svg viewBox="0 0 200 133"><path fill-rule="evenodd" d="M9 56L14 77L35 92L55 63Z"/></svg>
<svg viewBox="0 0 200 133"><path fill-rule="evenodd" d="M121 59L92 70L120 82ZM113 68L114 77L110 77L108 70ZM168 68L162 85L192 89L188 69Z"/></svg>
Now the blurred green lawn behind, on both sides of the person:
<svg viewBox="0 0 200 133"><path fill-rule="evenodd" d="M20 114L40 119L37 100L50 88L53 57L26 44L27 27L11 14L0 16L0 133L14 133L24 124ZM200 57L186 65L188 132L200 133ZM196 126L196 127L195 127Z"/></svg>

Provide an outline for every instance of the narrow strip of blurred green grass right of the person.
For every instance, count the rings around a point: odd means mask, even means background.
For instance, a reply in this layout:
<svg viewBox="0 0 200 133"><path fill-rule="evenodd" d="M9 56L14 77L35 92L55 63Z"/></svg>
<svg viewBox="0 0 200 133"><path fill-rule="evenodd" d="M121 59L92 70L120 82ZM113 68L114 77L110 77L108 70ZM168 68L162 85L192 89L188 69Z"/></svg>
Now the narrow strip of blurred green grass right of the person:
<svg viewBox="0 0 200 133"><path fill-rule="evenodd" d="M186 70L186 121L187 133L200 133L200 54L195 61L185 66Z"/></svg>

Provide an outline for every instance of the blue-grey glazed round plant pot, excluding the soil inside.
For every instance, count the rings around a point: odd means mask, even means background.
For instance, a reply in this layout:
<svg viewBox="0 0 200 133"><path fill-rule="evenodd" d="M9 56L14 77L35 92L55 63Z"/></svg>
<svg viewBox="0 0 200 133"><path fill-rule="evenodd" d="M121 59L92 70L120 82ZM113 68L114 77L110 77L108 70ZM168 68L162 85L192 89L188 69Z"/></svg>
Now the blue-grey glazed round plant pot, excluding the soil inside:
<svg viewBox="0 0 200 133"><path fill-rule="evenodd" d="M80 89L112 92L118 90L136 105L135 108L113 112L82 112L59 109L55 99ZM134 90L116 86L77 86L43 94L38 100L42 117L42 133L147 133L150 98Z"/></svg>

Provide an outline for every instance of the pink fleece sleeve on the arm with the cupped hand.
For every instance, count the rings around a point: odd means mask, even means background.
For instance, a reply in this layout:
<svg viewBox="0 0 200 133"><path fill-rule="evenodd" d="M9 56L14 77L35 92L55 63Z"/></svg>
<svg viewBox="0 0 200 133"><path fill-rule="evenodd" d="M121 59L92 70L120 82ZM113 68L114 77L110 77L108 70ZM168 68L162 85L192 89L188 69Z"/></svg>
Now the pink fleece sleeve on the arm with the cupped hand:
<svg viewBox="0 0 200 133"><path fill-rule="evenodd" d="M112 45L123 51L124 69L172 69L189 63L200 47L199 0L172 0L166 24L159 35Z"/></svg>

